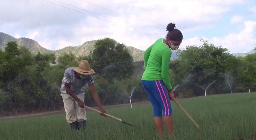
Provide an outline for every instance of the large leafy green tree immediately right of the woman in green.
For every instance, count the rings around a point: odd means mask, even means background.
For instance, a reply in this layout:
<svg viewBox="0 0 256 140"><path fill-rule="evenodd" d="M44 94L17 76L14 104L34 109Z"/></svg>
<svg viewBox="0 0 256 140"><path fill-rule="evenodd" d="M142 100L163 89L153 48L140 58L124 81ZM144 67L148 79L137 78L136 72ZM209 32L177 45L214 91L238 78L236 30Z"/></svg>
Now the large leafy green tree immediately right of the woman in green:
<svg viewBox="0 0 256 140"><path fill-rule="evenodd" d="M228 53L227 49L216 47L209 44L206 40L201 40L202 46L187 46L180 52L180 57L174 65L179 84L185 84L186 87L194 89L194 94L203 95L201 87L206 88L212 81L225 88L222 83L225 81L225 73L237 66L237 58ZM195 86L196 85L196 86ZM212 93L219 93L220 88L215 89Z"/></svg>

